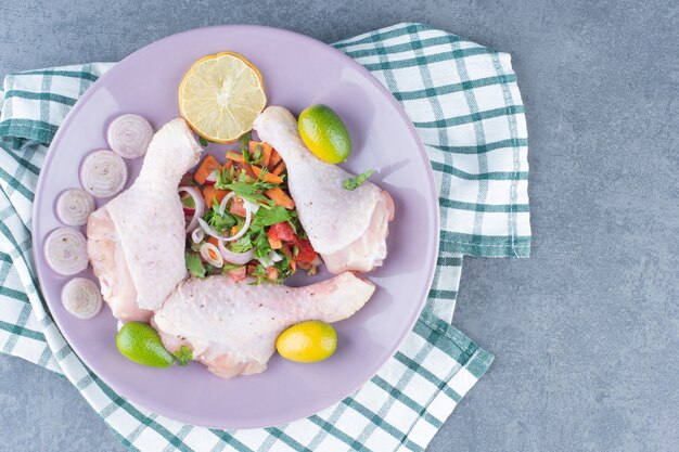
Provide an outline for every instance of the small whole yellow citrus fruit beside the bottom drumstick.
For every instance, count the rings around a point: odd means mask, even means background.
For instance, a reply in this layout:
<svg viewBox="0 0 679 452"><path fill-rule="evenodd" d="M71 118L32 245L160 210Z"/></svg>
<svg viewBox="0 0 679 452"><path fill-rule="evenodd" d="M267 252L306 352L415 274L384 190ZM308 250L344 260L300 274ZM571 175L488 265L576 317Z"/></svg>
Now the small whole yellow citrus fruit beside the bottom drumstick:
<svg viewBox="0 0 679 452"><path fill-rule="evenodd" d="M337 348L337 333L318 320L302 322L285 330L276 340L281 357L297 362L317 362L330 358Z"/></svg>

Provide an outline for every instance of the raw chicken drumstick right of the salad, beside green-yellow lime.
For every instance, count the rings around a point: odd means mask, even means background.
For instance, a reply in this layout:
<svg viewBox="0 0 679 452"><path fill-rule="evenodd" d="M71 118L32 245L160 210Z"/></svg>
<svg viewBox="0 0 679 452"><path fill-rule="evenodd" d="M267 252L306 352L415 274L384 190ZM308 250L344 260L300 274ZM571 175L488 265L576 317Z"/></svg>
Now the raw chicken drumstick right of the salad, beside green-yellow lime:
<svg viewBox="0 0 679 452"><path fill-rule="evenodd" d="M394 219L389 194L371 182L345 190L343 182L354 175L311 154L299 138L297 120L283 107L265 109L254 128L285 162L299 221L328 270L367 272L382 266Z"/></svg>

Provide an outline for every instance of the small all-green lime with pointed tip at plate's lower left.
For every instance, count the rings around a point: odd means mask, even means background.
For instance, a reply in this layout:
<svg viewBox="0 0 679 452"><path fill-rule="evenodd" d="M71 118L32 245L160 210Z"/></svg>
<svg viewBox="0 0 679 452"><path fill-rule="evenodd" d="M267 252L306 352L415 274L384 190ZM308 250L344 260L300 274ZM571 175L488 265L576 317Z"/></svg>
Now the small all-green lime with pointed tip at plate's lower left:
<svg viewBox="0 0 679 452"><path fill-rule="evenodd" d="M175 357L163 347L158 333L145 323L123 325L116 336L116 345L125 358L139 364L169 367L175 362Z"/></svg>

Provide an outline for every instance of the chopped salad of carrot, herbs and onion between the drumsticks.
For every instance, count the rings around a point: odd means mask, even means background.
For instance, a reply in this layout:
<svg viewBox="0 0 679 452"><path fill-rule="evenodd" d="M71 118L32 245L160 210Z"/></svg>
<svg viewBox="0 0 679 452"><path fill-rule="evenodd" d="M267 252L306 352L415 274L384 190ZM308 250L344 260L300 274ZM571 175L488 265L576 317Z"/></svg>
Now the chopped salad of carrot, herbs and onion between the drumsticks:
<svg viewBox="0 0 679 452"><path fill-rule="evenodd" d="M227 152L225 165L207 155L182 179L187 269L195 277L251 276L251 284L282 283L297 269L315 274L321 261L297 218L285 164L249 133L239 141L241 152Z"/></svg>

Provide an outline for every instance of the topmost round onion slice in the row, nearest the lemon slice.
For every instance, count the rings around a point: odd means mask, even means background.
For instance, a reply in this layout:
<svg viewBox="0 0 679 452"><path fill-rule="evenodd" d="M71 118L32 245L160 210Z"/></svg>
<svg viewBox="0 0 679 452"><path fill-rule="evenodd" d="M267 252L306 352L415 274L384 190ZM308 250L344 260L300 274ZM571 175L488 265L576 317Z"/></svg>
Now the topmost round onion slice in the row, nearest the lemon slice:
<svg viewBox="0 0 679 452"><path fill-rule="evenodd" d="M128 113L111 122L106 138L111 148L120 157L138 158L149 148L153 127L141 116Z"/></svg>

